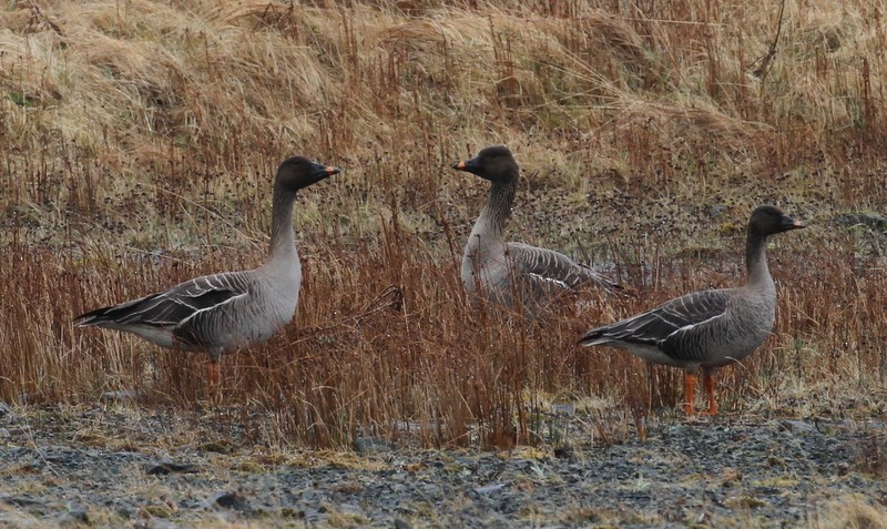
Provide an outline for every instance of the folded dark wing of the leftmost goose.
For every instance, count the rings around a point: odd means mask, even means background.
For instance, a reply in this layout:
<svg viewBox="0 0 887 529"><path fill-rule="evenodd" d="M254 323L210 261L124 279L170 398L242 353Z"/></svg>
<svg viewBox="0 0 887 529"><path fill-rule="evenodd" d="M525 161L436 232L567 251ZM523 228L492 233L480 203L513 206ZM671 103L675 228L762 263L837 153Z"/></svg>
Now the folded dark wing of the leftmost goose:
<svg viewBox="0 0 887 529"><path fill-rule="evenodd" d="M165 292L81 314L74 325L156 327L176 334L190 345L202 345L193 343L194 337L188 337L188 333L179 336L177 330L196 315L217 311L248 293L249 281L244 273L212 274L180 283Z"/></svg>

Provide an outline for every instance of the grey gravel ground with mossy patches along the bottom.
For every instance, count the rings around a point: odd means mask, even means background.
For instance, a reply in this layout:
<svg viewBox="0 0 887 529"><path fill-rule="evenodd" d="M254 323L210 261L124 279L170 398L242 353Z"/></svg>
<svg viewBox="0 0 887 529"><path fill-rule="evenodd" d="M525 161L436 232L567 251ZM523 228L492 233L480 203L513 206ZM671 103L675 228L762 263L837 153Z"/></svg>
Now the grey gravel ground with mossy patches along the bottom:
<svg viewBox="0 0 887 529"><path fill-rule="evenodd" d="M154 410L0 405L0 527L887 527L876 419L674 419L503 452L231 438Z"/></svg>

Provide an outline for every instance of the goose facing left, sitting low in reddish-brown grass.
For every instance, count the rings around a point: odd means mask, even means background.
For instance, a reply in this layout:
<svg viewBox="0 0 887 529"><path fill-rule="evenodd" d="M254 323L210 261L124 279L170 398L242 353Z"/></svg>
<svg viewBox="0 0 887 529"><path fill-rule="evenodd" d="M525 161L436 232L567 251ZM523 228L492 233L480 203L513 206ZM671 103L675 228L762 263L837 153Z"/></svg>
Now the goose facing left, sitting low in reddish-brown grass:
<svg viewBox="0 0 887 529"><path fill-rule="evenodd" d="M583 284L619 287L560 252L502 238L519 181L518 163L508 147L488 146L451 166L490 181L487 204L471 228L462 256L460 275L472 302L482 297L534 314L558 294Z"/></svg>

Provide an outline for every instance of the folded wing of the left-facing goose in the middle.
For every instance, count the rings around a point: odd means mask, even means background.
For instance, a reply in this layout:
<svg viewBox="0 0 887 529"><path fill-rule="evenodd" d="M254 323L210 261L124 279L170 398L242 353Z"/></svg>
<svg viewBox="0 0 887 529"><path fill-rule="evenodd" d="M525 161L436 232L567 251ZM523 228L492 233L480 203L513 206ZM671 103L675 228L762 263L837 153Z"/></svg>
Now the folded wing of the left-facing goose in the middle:
<svg viewBox="0 0 887 529"><path fill-rule="evenodd" d="M608 289L619 288L616 283L598 274L590 266L579 264L553 250L509 243L508 254L519 273L549 292L575 288L589 282Z"/></svg>

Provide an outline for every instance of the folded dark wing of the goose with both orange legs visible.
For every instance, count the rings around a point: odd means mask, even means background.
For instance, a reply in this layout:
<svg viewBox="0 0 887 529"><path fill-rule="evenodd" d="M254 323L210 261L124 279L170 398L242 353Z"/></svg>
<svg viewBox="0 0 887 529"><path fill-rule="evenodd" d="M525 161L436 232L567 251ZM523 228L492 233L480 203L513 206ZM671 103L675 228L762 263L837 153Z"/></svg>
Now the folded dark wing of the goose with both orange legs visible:
<svg viewBox="0 0 887 529"><path fill-rule="evenodd" d="M703 291L677 297L636 316L593 328L579 343L653 346L672 358L682 359L683 339L723 316L731 292Z"/></svg>

